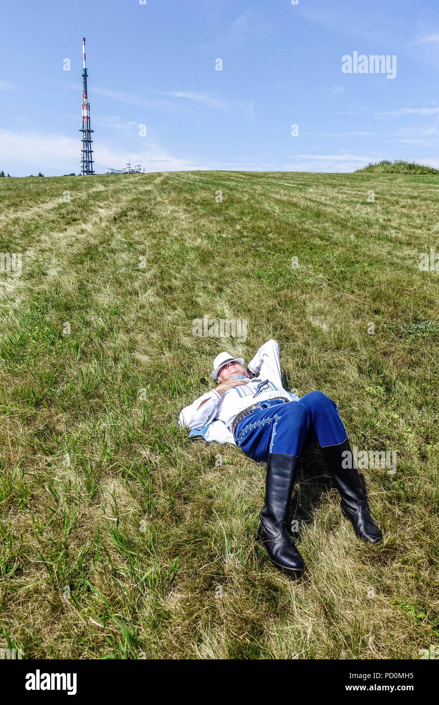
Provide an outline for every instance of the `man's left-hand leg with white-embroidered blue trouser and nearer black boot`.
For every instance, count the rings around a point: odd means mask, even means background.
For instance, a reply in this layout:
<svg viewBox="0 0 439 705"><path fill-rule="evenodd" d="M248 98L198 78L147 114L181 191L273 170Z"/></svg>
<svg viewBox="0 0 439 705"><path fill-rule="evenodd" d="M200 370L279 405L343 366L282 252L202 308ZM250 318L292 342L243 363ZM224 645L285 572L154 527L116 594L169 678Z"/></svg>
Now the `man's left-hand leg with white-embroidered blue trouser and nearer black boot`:
<svg viewBox="0 0 439 705"><path fill-rule="evenodd" d="M290 539L288 515L297 461L309 434L309 411L297 401L270 405L261 402L258 411L238 424L240 448L254 460L267 460L265 503L259 513L258 539L268 558L290 575L301 575L302 556Z"/></svg>

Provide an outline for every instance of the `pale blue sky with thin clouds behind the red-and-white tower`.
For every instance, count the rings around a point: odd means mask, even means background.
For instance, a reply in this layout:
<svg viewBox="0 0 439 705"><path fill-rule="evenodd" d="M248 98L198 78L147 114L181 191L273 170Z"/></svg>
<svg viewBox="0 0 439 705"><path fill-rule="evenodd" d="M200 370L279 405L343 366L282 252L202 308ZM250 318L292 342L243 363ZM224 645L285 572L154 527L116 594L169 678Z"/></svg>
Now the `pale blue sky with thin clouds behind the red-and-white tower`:
<svg viewBox="0 0 439 705"><path fill-rule="evenodd" d="M5 172L78 173L82 36L98 172L439 166L433 0L2 0ZM354 51L395 78L343 73Z"/></svg>

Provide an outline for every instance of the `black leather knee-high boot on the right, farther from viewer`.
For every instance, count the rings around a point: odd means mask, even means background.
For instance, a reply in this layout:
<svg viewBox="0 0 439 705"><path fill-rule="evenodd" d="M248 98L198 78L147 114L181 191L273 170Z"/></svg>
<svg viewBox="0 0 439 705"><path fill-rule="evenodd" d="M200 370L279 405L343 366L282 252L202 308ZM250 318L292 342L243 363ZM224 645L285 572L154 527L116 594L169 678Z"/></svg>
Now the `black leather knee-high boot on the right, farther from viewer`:
<svg viewBox="0 0 439 705"><path fill-rule="evenodd" d="M343 456L342 453L347 450L351 455ZM342 498L342 513L350 520L357 537L370 544L381 544L383 534L370 515L349 440L346 439L337 446L321 447L321 451L328 470L337 483ZM342 467L348 460L352 467Z"/></svg>

